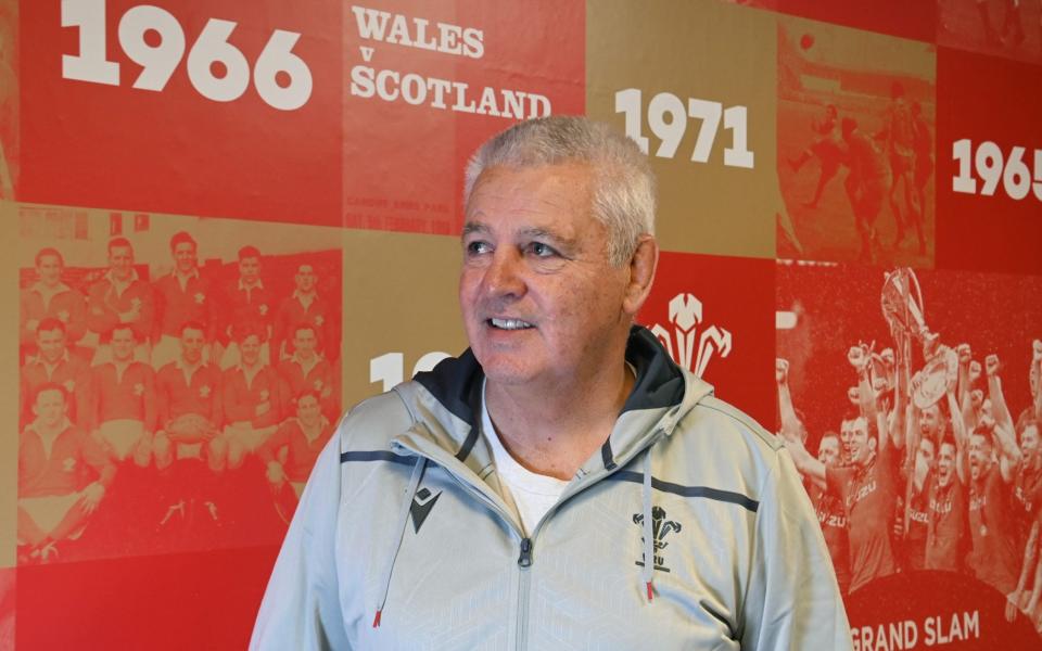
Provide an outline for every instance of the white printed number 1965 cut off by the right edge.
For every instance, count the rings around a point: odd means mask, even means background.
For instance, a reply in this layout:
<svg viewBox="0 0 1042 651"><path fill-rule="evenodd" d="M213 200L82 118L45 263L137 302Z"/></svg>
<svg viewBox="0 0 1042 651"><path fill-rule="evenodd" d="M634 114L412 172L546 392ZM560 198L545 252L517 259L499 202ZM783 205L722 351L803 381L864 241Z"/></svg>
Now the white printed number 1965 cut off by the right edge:
<svg viewBox="0 0 1042 651"><path fill-rule="evenodd" d="M975 154L968 138L956 140L952 143L952 158L958 163L958 174L952 177L952 191L993 196L1002 181L1009 199L1020 201L1033 191L1035 199L1042 201L1042 150L1034 150L1033 170L1024 159L1026 153L1027 149L1015 146L1004 156L1002 148L988 140L977 145ZM973 169L984 182L979 190Z"/></svg>

